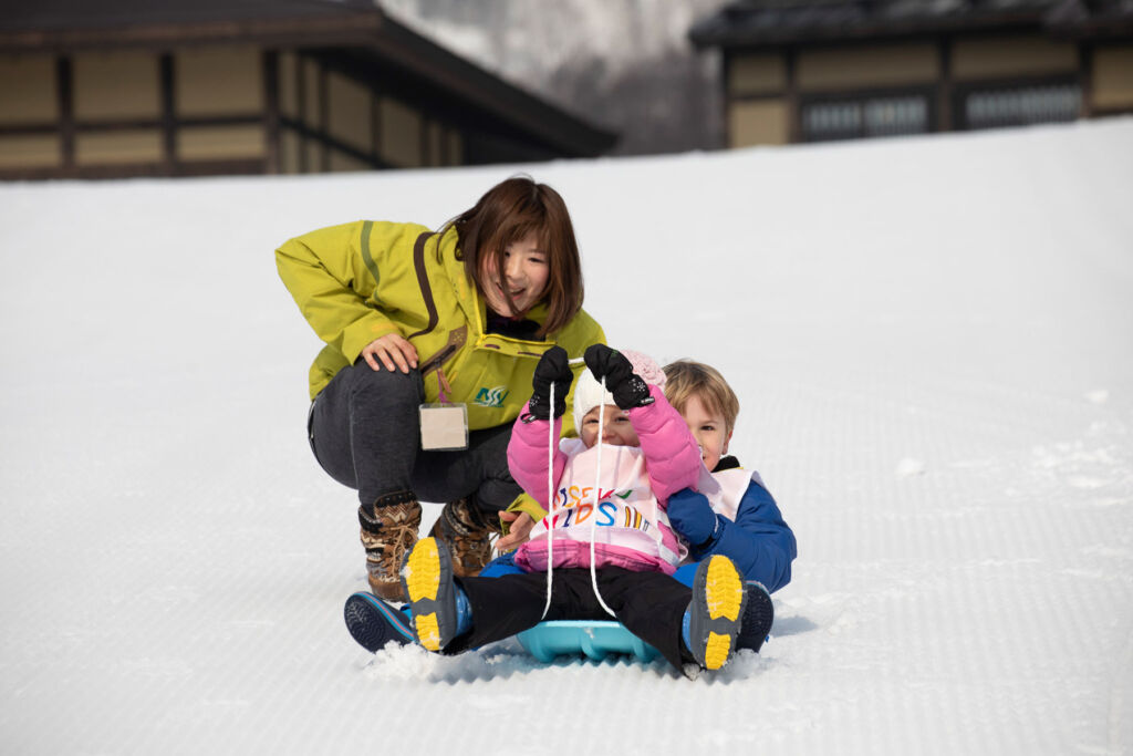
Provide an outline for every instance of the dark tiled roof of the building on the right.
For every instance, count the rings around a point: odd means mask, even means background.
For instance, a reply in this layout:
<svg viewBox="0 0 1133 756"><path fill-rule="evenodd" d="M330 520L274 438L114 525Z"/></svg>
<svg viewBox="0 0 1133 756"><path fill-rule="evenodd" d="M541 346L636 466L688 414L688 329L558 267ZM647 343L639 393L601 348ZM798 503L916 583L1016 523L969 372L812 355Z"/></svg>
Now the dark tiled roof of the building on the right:
<svg viewBox="0 0 1133 756"><path fill-rule="evenodd" d="M739 0L697 22L699 48L1042 28L1054 36L1133 35L1133 0Z"/></svg>

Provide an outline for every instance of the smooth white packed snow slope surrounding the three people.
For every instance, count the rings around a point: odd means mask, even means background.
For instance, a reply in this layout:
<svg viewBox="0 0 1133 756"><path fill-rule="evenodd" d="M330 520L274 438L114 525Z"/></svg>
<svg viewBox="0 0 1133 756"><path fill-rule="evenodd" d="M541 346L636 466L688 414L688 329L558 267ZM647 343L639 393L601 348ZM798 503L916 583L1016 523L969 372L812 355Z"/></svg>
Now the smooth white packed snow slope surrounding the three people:
<svg viewBox="0 0 1133 756"><path fill-rule="evenodd" d="M616 346L718 366L799 540L772 640L365 653L273 249L526 171ZM1133 121L663 159L0 186L0 749L1133 749ZM428 506L428 519L437 507Z"/></svg>

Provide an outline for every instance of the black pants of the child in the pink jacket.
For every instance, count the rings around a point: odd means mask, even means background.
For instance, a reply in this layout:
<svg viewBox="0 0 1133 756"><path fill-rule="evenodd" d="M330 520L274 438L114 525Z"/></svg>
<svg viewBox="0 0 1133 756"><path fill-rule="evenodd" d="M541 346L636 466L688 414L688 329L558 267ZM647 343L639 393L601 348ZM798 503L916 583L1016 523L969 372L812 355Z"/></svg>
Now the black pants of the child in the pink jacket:
<svg viewBox="0 0 1133 756"><path fill-rule="evenodd" d="M681 640L681 620L692 589L663 572L631 572L620 567L597 570L602 600L630 632L661 652L673 666L695 660ZM535 627L542 620L608 620L590 583L589 569L559 569L552 574L551 608L545 572L497 578L458 578L472 609L472 629L445 647L459 654ZM540 619L542 618L542 619Z"/></svg>

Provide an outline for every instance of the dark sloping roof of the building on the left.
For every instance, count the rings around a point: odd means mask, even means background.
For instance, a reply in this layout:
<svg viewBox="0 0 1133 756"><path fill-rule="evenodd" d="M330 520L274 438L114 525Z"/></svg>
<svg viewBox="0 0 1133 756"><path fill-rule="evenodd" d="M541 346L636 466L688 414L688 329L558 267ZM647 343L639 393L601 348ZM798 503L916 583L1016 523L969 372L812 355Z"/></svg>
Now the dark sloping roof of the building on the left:
<svg viewBox="0 0 1133 756"><path fill-rule="evenodd" d="M438 46L370 0L0 0L0 53L216 43L339 52L563 156L598 155L617 138Z"/></svg>

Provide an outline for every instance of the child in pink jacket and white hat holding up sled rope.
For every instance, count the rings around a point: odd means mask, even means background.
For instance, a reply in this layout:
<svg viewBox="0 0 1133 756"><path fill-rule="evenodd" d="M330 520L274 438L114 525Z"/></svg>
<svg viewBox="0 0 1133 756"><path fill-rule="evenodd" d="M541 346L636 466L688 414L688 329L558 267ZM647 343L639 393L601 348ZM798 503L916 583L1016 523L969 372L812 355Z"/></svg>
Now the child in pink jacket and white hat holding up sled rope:
<svg viewBox="0 0 1133 756"><path fill-rule="evenodd" d="M587 349L585 359L590 372L574 391L580 438L553 448L550 501L548 444L559 438L573 379L564 350L552 347L539 360L508 447L516 481L548 510L516 555L526 572L454 578L444 544L419 541L402 570L415 639L457 654L543 620L612 614L679 670L718 669L734 652L743 615L740 574L714 555L691 588L671 577L683 554L665 504L696 485L697 442L665 399L664 373L651 359L605 345Z"/></svg>

